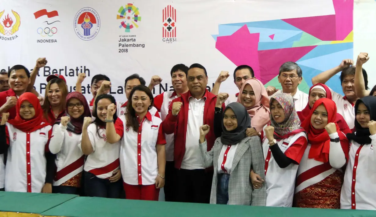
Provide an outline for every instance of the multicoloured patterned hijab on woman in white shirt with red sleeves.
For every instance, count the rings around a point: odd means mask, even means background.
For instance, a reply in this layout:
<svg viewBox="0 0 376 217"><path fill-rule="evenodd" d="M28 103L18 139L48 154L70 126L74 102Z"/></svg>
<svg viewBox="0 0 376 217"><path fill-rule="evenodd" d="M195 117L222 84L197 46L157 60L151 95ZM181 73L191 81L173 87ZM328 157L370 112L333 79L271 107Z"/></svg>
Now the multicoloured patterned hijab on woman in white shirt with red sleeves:
<svg viewBox="0 0 376 217"><path fill-rule="evenodd" d="M277 123L270 114L270 125L274 127L274 138L288 138L291 135L303 132L304 129L300 127L300 120L295 110L293 96L291 94L278 93L270 99L270 107L274 100L282 106L285 114L285 120L282 123Z"/></svg>

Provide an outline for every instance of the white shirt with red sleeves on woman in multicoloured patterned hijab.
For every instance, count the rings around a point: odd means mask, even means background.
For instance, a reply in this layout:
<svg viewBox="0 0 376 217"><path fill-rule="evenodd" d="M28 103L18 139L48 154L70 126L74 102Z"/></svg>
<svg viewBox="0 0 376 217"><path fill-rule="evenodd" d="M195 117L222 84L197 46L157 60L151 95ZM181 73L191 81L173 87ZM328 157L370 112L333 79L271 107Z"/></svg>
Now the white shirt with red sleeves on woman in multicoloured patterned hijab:
<svg viewBox="0 0 376 217"><path fill-rule="evenodd" d="M266 125L267 126L267 125ZM305 132L277 141L279 149L290 159L298 164L291 163L285 168L280 168L271 153L269 141L265 137L265 127L262 129L262 150L265 159L266 206L293 205L295 178L300 160L307 147Z"/></svg>

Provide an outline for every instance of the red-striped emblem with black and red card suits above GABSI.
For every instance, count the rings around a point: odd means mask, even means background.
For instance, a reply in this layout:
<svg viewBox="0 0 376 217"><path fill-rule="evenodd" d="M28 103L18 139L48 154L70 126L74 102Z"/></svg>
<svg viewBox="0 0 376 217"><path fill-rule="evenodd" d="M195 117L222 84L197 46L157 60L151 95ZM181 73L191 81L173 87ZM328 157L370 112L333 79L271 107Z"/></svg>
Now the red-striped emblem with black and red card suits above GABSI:
<svg viewBox="0 0 376 217"><path fill-rule="evenodd" d="M163 38L176 38L176 9L168 5L162 11L162 36Z"/></svg>

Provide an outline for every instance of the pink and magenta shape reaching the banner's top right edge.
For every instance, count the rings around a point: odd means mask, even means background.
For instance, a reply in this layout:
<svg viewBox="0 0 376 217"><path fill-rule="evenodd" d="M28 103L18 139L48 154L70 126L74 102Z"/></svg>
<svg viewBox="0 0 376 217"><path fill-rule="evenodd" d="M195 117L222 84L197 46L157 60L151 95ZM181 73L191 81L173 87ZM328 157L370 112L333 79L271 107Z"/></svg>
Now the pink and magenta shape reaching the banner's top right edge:
<svg viewBox="0 0 376 217"><path fill-rule="evenodd" d="M354 0L332 0L334 15L284 19L322 41L342 41L353 30Z"/></svg>

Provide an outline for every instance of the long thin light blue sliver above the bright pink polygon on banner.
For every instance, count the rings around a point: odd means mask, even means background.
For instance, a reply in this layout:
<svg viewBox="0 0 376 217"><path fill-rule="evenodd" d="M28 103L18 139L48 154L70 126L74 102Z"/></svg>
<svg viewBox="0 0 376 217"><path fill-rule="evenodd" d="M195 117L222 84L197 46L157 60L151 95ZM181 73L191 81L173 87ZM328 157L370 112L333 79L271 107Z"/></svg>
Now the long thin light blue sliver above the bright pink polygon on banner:
<svg viewBox="0 0 376 217"><path fill-rule="evenodd" d="M245 24L247 24L248 27L256 27L256 28L285 29L285 30L293 30L293 31L300 30L297 27L286 23L283 20L263 20L263 21L254 21L254 22L246 22L246 23L229 23L229 24L224 24L224 25L244 26Z"/></svg>

